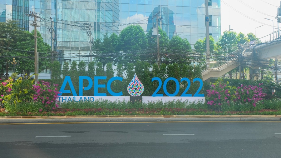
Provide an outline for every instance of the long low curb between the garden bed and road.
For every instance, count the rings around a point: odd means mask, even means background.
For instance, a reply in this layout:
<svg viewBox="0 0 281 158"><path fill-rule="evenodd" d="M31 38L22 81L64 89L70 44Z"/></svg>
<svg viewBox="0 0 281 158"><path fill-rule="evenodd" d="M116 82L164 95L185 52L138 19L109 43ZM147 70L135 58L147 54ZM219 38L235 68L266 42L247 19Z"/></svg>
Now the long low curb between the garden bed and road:
<svg viewBox="0 0 281 158"><path fill-rule="evenodd" d="M281 122L281 115L193 115L193 116L4 116L0 123L27 122L128 122L128 121L274 121Z"/></svg>

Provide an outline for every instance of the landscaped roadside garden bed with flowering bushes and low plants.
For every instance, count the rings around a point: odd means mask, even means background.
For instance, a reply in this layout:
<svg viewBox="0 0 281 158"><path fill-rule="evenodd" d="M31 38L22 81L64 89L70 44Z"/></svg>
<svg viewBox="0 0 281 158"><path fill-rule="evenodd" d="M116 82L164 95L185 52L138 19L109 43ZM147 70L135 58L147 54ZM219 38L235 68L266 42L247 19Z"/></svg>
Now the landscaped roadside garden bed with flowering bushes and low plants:
<svg viewBox="0 0 281 158"><path fill-rule="evenodd" d="M205 83L205 103L98 100L59 104L56 104L58 85L47 81L34 85L31 79L19 78L0 83L0 116L281 115L278 86L262 82L239 86L223 80Z"/></svg>

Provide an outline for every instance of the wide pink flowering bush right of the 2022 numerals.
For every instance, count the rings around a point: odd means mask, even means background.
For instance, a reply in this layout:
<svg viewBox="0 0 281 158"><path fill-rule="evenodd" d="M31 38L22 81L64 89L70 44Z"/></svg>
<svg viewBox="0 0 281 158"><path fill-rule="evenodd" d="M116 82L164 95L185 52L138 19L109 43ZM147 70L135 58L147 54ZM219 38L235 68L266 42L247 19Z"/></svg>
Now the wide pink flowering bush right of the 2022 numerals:
<svg viewBox="0 0 281 158"><path fill-rule="evenodd" d="M237 88L218 80L207 90L207 104L214 110L249 111L257 109L259 101L266 96L258 86L241 85ZM260 84L260 86L262 83Z"/></svg>

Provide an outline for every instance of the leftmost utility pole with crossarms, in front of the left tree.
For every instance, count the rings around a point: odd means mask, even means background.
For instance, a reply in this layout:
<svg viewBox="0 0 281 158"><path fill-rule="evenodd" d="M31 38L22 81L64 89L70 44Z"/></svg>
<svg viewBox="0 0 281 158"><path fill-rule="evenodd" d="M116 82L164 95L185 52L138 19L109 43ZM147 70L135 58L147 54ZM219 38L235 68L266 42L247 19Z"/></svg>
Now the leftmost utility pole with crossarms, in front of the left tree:
<svg viewBox="0 0 281 158"><path fill-rule="evenodd" d="M26 14L28 17L34 17L34 21L31 24L32 26L34 26L34 79L35 79L35 84L37 84L38 82L38 76L39 76L39 55L37 52L37 27L40 27L39 25L37 25L37 18L40 18L39 16L37 16L36 12L32 12L29 11L29 14Z"/></svg>

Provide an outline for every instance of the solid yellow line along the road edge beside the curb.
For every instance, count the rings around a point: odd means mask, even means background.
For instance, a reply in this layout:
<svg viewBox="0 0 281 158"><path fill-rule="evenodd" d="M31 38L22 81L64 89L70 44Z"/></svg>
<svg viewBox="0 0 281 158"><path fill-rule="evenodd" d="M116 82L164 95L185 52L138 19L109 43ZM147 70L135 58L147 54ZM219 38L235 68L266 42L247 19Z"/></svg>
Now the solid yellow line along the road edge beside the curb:
<svg viewBox="0 0 281 158"><path fill-rule="evenodd" d="M48 123L0 123L0 125L84 124L84 123L281 123L281 121L151 121L151 122L48 122Z"/></svg>

